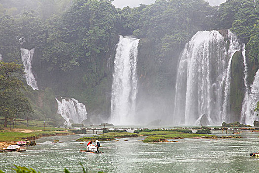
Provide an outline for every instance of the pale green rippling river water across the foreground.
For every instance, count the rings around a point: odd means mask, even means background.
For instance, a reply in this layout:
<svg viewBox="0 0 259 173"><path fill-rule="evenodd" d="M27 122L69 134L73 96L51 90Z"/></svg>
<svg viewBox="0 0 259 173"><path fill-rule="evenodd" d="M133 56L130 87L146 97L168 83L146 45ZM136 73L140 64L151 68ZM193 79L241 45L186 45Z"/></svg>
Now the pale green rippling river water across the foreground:
<svg viewBox="0 0 259 173"><path fill-rule="evenodd" d="M214 131L221 135L221 131ZM225 132L224 134L225 135ZM24 153L0 153L0 170L11 173L13 164L42 173L251 173L258 172L259 159L249 153L259 149L258 134L241 133L243 139L180 139L178 142L143 143L145 137L101 142L104 154L79 152L86 148L75 141L83 135L38 139ZM51 143L53 140L63 143Z"/></svg>

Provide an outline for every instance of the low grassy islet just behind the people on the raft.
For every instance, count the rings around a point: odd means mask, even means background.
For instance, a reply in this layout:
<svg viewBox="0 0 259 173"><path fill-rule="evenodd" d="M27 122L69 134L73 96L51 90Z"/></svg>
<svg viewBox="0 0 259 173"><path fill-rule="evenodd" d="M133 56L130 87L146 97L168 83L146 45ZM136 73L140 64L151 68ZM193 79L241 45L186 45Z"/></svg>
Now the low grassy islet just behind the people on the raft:
<svg viewBox="0 0 259 173"><path fill-rule="evenodd" d="M139 135L136 133L118 133L118 132L110 132L105 133L102 135L96 135L92 137L82 137L77 139L77 141L93 141L93 140L100 140L100 141L107 141L107 140L115 140L116 138L125 138L125 137L138 137Z"/></svg>

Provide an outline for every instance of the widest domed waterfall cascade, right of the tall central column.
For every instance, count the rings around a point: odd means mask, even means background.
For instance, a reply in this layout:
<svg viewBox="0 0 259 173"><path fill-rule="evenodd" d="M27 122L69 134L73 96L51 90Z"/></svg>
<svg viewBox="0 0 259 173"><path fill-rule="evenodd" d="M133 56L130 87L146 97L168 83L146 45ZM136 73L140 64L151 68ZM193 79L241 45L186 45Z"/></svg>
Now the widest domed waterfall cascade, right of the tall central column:
<svg viewBox="0 0 259 173"><path fill-rule="evenodd" d="M192 37L179 59L174 124L198 124L204 114L209 125L227 121L232 56L240 49L230 31L227 41L216 30L199 31Z"/></svg>

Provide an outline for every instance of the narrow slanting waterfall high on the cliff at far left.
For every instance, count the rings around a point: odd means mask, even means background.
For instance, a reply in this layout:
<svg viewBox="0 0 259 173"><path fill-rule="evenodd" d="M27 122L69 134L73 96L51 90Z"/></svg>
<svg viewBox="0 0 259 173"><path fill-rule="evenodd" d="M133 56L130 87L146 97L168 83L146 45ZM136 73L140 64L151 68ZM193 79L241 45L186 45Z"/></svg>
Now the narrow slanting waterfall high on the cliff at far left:
<svg viewBox="0 0 259 173"><path fill-rule="evenodd" d="M35 77L32 72L33 54L34 54L34 48L32 50L21 48L22 62L26 73L25 74L26 82L29 86L33 88L33 90L38 90L37 81L35 80Z"/></svg>

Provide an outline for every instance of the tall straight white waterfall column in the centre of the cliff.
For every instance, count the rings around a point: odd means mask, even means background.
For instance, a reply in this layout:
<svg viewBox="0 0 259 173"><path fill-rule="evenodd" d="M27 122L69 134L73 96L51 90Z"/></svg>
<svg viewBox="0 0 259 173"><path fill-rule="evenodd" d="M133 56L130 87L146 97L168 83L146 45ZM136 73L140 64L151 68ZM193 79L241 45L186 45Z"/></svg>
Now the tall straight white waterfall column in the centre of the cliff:
<svg viewBox="0 0 259 173"><path fill-rule="evenodd" d="M138 44L130 36L120 36L117 44L111 95L111 122L116 125L135 123Z"/></svg>

